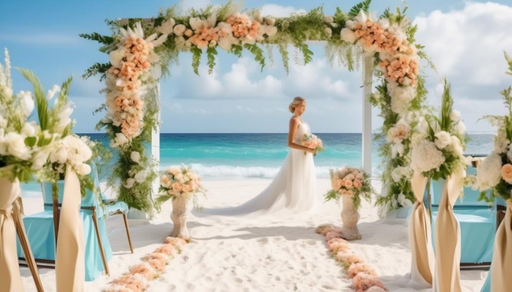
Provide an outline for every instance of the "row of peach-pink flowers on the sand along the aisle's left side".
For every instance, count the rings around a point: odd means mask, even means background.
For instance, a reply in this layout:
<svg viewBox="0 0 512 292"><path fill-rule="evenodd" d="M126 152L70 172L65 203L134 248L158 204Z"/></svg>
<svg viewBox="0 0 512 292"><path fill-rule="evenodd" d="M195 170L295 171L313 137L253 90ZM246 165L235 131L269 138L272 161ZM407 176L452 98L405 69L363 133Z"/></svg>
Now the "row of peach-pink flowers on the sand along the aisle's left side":
<svg viewBox="0 0 512 292"><path fill-rule="evenodd" d="M186 245L186 241L178 237L167 237L163 246L142 258L142 263L130 267L128 273L112 280L109 287L103 289L103 292L139 292L144 291L152 281L160 276L181 248Z"/></svg>

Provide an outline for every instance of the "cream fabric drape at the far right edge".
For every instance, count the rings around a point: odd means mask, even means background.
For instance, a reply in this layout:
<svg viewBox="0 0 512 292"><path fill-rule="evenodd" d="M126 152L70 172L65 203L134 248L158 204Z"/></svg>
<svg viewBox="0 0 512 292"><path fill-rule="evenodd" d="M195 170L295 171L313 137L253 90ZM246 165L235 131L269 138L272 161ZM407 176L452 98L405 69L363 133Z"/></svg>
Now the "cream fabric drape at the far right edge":
<svg viewBox="0 0 512 292"><path fill-rule="evenodd" d="M490 290L512 290L512 200L494 238L493 263L490 271Z"/></svg>

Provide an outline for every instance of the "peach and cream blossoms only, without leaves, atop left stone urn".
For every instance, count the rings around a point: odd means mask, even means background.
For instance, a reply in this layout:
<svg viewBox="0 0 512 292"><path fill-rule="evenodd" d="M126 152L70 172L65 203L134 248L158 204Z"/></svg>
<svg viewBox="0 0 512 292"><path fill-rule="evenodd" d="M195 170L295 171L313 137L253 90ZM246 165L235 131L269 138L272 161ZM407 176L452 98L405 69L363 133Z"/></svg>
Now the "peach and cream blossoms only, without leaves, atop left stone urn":
<svg viewBox="0 0 512 292"><path fill-rule="evenodd" d="M160 177L160 189L170 196L189 196L201 188L201 177L186 167L169 167Z"/></svg>

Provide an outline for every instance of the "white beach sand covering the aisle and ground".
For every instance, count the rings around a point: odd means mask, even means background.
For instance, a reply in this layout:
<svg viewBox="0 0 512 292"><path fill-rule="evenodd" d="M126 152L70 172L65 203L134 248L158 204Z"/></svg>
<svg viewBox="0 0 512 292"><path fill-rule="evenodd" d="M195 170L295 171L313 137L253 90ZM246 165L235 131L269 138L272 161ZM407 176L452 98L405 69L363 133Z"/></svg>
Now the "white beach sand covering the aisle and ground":
<svg viewBox="0 0 512 292"><path fill-rule="evenodd" d="M270 180L206 181L205 207L234 206L263 190ZM189 216L188 228L194 239L173 259L148 291L350 291L350 280L342 267L329 257L323 236L315 228L324 223L341 225L340 208L323 203L328 180L318 180L319 208L315 215L271 215L267 217ZM376 183L378 188L378 183ZM27 214L42 210L41 199L24 199ZM121 216L109 219L114 257L109 261L111 276L86 282L86 291L99 291L128 266L152 252L172 230L172 205L167 202L151 224L131 220L135 254L127 245ZM390 291L411 291L399 286L410 269L408 221L379 220L375 207L364 202L359 230L363 239L352 241L352 249L374 267ZM55 291L54 270L41 269L45 291ZM464 291L480 291L487 272L463 271ZM26 291L35 291L27 268L22 268ZM424 289L430 291L431 289Z"/></svg>

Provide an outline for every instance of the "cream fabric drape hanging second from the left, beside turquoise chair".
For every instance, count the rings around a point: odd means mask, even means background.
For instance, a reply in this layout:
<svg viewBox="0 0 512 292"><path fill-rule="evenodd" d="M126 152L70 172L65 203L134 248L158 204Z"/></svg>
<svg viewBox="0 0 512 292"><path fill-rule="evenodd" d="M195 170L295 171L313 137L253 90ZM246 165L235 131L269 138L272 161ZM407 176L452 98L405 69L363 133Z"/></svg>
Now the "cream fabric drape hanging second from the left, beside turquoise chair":
<svg viewBox="0 0 512 292"><path fill-rule="evenodd" d="M85 271L83 225L79 214L80 200L78 177L73 171L68 171L64 179L55 255L57 292L83 291Z"/></svg>

